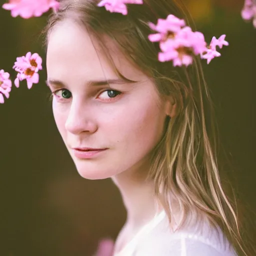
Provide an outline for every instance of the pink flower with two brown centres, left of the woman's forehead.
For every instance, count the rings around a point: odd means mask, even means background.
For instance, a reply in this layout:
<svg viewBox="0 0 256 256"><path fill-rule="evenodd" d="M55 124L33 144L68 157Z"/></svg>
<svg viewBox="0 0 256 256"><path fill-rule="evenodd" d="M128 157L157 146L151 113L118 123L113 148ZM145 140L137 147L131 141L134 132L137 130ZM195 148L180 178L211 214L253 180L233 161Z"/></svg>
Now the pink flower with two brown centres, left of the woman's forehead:
<svg viewBox="0 0 256 256"><path fill-rule="evenodd" d="M33 83L38 83L38 70L42 69L42 59L37 53L27 52L25 56L17 57L13 68L18 72L14 84L19 87L19 81L26 79L27 88L30 89Z"/></svg>

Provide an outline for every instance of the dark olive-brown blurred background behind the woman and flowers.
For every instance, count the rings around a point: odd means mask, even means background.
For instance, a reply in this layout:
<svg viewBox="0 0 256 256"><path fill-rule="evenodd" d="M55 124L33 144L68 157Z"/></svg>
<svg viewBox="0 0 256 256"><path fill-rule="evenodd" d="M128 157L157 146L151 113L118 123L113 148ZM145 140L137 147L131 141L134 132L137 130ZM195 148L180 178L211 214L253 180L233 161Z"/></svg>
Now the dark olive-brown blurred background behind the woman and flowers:
<svg viewBox="0 0 256 256"><path fill-rule="evenodd" d="M204 71L233 187L256 211L256 29L240 16L243 0L186 2L207 41L225 33L230 43ZM46 18L12 18L0 8L0 69L14 77L17 56L27 51L45 56L39 34ZM0 105L1 256L92 255L98 240L115 238L125 220L111 179L86 180L75 170L55 127L45 79L44 69L39 84L28 91L21 82Z"/></svg>

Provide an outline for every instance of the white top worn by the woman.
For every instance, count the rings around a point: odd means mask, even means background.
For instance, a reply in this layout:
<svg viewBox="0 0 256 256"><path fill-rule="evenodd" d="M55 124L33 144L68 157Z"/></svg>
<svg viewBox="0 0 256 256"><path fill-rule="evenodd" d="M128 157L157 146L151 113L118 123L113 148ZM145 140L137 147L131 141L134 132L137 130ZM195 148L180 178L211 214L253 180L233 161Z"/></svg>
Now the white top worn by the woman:
<svg viewBox="0 0 256 256"><path fill-rule="evenodd" d="M209 224L175 232L168 226L161 211L113 256L237 256L222 232Z"/></svg>

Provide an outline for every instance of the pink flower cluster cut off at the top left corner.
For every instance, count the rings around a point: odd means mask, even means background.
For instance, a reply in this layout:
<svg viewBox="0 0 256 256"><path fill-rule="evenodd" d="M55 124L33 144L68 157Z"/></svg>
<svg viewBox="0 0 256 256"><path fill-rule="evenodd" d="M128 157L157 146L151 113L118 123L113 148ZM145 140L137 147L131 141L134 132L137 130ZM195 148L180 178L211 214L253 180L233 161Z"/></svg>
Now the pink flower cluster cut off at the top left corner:
<svg viewBox="0 0 256 256"><path fill-rule="evenodd" d="M59 2L56 0L9 0L9 3L4 3L2 7L10 10L12 17L20 15L22 18L30 18L39 17L50 8L57 11Z"/></svg>

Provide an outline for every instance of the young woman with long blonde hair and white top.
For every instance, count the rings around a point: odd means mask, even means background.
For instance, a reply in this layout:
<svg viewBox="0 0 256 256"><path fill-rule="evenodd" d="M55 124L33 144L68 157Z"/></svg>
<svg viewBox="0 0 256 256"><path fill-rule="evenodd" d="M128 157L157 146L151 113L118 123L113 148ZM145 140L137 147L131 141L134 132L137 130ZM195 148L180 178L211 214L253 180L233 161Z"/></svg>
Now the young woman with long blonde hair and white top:
<svg viewBox="0 0 256 256"><path fill-rule="evenodd" d="M219 177L201 60L174 67L148 40L148 21L185 18L180 1L144 0L127 15L125 4L121 14L98 3L63 0L50 17L47 82L79 174L111 177L122 195L127 219L113 255L255 255Z"/></svg>

